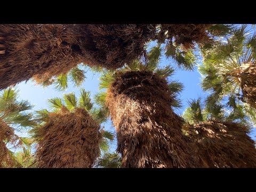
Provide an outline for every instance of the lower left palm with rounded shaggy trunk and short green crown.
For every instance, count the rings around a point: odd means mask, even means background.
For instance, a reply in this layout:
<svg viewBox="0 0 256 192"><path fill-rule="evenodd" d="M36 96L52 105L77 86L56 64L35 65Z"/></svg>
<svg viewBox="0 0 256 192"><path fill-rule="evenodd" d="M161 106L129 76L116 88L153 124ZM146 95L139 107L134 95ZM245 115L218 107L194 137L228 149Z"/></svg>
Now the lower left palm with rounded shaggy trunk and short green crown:
<svg viewBox="0 0 256 192"><path fill-rule="evenodd" d="M38 166L92 167L100 147L107 151L107 141L113 140L113 135L100 132L106 117L101 109L93 108L90 92L81 89L79 99L69 93L48 102L54 110L37 111L39 125L31 131L37 142Z"/></svg>

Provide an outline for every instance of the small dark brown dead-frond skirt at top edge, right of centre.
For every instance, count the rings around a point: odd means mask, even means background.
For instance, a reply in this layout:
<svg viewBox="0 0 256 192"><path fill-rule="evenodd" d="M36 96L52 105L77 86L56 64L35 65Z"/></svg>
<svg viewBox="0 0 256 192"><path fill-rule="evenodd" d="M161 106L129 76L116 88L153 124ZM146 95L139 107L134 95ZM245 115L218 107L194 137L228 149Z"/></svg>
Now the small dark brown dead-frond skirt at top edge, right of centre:
<svg viewBox="0 0 256 192"><path fill-rule="evenodd" d="M162 42L167 39L177 45L182 45L185 49L194 47L195 43L211 42L210 34L207 32L212 24L162 24L158 39Z"/></svg>

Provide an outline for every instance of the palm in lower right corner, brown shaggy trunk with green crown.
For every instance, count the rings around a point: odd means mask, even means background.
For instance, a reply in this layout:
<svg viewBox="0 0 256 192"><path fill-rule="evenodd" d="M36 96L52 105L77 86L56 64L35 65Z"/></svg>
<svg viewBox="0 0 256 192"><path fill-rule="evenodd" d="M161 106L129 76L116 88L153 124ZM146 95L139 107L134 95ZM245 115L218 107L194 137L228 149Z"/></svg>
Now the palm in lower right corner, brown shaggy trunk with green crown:
<svg viewBox="0 0 256 192"><path fill-rule="evenodd" d="M189 102L184 111L183 129L199 158L197 167L256 167L254 141L249 127L230 121L220 103L204 108L200 99ZM239 119L237 119L239 120Z"/></svg>

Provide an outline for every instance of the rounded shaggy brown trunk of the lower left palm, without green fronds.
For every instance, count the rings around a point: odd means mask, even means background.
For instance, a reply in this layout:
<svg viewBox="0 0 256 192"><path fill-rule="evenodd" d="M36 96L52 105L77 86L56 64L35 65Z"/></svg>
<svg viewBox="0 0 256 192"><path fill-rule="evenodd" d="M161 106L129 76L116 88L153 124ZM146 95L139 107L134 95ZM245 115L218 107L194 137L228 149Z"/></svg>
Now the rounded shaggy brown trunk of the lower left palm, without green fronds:
<svg viewBox="0 0 256 192"><path fill-rule="evenodd" d="M100 125L84 108L50 114L39 128L36 156L39 167L89 168L100 154Z"/></svg>

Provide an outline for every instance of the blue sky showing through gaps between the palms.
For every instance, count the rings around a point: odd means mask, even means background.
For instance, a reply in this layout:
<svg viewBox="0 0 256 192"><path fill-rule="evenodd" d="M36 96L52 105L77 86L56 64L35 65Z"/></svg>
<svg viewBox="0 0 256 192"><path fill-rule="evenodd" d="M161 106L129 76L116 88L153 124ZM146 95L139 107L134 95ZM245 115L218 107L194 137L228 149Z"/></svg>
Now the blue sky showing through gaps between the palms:
<svg viewBox="0 0 256 192"><path fill-rule="evenodd" d="M183 107L180 109L175 109L175 113L182 114L188 106L188 100L197 99L198 97L204 98L205 94L207 93L203 92L201 86L199 85L201 83L201 75L198 73L197 68L194 71L180 70L171 60L167 60L165 57L162 58L159 66L164 66L170 63L176 69L175 74L170 78L170 80L178 80L184 85L184 90L179 96L179 98L182 100ZM83 87L86 91L90 91L91 98L93 99L93 96L99 91L99 74L92 73L92 71L88 68L85 70L87 71L85 74L86 79L81 87ZM70 82L68 85L68 89L63 92L55 90L54 85L43 87L41 85L35 85L35 82L33 81L28 81L27 83L22 82L17 85L17 88L19 89L19 99L29 100L30 103L35 105L34 110L39 110L42 108L47 108L47 99L53 97L62 97L63 93L74 92L76 96L78 96L79 88L74 87ZM110 120L108 120L104 125L106 130L115 130L114 127L112 127ZM22 133L22 135L27 136L26 133ZM250 134L253 140L256 139L255 135L256 131L253 129ZM111 151L116 149L115 143L116 142L113 143Z"/></svg>

